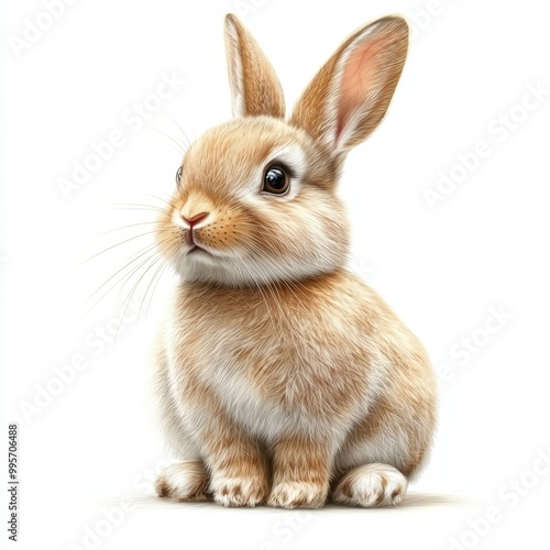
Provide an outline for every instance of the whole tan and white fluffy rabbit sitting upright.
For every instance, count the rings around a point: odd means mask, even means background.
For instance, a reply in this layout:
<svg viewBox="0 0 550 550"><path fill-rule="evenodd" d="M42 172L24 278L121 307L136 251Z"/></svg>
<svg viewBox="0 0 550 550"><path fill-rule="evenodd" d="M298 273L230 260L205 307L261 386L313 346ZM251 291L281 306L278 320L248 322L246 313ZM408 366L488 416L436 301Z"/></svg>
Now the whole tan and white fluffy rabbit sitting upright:
<svg viewBox="0 0 550 550"><path fill-rule="evenodd" d="M154 393L178 457L156 493L223 506L397 505L430 450L422 344L345 270L337 195L346 153L378 125L408 26L385 16L330 57L285 119L275 72L224 20L233 119L195 141L161 213L175 273Z"/></svg>

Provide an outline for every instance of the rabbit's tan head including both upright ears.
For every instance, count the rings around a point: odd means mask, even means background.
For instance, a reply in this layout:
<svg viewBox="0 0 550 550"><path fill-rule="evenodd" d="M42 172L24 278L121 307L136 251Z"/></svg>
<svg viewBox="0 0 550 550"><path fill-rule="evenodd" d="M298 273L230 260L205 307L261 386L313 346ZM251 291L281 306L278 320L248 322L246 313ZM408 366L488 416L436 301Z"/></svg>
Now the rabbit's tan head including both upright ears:
<svg viewBox="0 0 550 550"><path fill-rule="evenodd" d="M206 132L177 170L157 242L186 280L248 286L342 267L349 224L337 195L348 151L383 119L408 45L388 16L350 36L288 120L275 72L226 18L234 119Z"/></svg>

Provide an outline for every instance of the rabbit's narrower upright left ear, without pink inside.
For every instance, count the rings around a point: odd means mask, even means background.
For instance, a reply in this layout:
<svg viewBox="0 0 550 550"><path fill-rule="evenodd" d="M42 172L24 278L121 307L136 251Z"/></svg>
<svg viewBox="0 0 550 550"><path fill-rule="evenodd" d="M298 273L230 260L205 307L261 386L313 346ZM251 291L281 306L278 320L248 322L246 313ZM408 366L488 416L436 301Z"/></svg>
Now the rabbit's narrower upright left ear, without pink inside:
<svg viewBox="0 0 550 550"><path fill-rule="evenodd" d="M226 54L233 117L284 117L283 89L272 64L232 13L226 15Z"/></svg>

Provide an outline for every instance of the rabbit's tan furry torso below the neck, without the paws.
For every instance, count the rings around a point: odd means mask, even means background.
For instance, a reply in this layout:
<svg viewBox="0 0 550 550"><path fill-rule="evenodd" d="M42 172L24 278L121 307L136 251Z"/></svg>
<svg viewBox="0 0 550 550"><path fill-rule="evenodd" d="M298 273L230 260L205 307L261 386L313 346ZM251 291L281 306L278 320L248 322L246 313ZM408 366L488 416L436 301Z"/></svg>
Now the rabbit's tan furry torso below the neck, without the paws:
<svg viewBox="0 0 550 550"><path fill-rule="evenodd" d="M255 289L184 284L158 358L165 429L183 461L201 460L205 438L215 447L238 431L268 454L293 435L322 442L332 479L372 463L410 476L431 442L422 346L344 271Z"/></svg>

